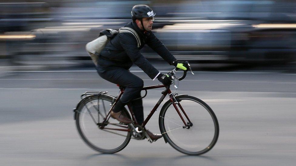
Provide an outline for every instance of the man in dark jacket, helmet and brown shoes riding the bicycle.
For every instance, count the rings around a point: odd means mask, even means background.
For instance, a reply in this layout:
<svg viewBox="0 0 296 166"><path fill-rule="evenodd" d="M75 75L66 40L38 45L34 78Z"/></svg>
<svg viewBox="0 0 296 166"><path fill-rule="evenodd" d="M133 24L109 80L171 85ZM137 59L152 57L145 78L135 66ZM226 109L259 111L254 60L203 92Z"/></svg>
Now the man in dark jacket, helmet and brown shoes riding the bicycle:
<svg viewBox="0 0 296 166"><path fill-rule="evenodd" d="M178 62L163 43L151 32L156 14L149 6L135 5L132 8L131 14L132 22L125 26L125 31L119 30L119 34L113 37L101 51L96 69L103 79L125 87L122 97L111 111L111 117L119 122L132 123L133 121L124 116L121 111L130 102L136 120L141 125L144 121L143 103L142 99L137 98L141 97L144 83L140 77L131 73L129 68L135 63L153 80L157 78L165 85L170 85L172 81L153 67L140 53L140 49L147 44L170 65L183 70L187 70L187 66L186 63ZM149 130L146 130L146 132L152 140L162 137L162 135L153 134Z"/></svg>

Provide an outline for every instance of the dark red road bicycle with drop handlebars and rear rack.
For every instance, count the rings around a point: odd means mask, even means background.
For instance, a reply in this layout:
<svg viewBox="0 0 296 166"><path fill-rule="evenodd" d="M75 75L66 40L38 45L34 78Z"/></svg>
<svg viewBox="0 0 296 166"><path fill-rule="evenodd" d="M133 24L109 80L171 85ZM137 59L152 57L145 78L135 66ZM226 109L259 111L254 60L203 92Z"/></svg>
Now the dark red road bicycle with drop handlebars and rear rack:
<svg viewBox="0 0 296 166"><path fill-rule="evenodd" d="M193 74L190 65L189 69ZM174 83L175 79L183 80L186 73L187 71L184 71L182 77L176 78L175 68L167 74ZM73 109L79 135L89 147L101 153L119 152L128 145L130 139L143 140L146 137L152 143L144 126L168 95L170 99L164 103L159 114L159 128L165 143L187 155L201 155L210 151L217 142L219 124L213 110L204 101L188 94L178 95L176 85L176 91L172 93L170 86L163 84L143 87L145 95L138 99L146 97L147 90L163 87L166 87L166 90L161 92L162 96L142 125L137 123L129 104L127 107L130 113L126 108L123 112L134 121L133 124L123 124L110 118L110 111L122 96L124 87L119 86L120 92L117 96L111 96L106 91L83 93L82 100Z"/></svg>

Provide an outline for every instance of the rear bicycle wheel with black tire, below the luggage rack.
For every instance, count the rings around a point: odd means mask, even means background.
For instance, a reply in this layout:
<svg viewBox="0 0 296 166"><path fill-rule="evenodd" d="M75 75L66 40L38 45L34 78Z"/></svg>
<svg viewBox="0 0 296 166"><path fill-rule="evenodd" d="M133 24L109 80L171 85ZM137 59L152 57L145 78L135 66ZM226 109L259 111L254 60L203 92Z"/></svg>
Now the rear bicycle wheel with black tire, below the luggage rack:
<svg viewBox="0 0 296 166"><path fill-rule="evenodd" d="M78 106L75 114L76 126L84 142L96 151L102 153L115 153L121 151L128 145L131 139L131 132L100 129L98 123L103 122L110 108L112 97L107 95L92 96L86 99ZM127 117L130 118L126 109L123 110ZM125 128L120 127L119 122L113 118L109 119L106 128L112 129L130 129L127 125ZM111 133L113 132L113 133ZM117 134L114 134L117 133Z"/></svg>

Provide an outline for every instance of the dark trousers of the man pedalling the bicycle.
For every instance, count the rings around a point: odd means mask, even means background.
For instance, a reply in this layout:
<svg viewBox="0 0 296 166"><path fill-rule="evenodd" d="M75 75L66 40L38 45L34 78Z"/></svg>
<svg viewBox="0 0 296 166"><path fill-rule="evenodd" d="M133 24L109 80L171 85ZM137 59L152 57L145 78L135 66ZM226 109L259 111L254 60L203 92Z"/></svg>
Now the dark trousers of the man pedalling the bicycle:
<svg viewBox="0 0 296 166"><path fill-rule="evenodd" d="M141 90L144 86L143 80L129 70L120 67L113 70L104 70L97 67L97 72L103 79L126 87L120 101L125 105L130 102L138 123L142 124L144 122L142 99L133 99L141 97Z"/></svg>

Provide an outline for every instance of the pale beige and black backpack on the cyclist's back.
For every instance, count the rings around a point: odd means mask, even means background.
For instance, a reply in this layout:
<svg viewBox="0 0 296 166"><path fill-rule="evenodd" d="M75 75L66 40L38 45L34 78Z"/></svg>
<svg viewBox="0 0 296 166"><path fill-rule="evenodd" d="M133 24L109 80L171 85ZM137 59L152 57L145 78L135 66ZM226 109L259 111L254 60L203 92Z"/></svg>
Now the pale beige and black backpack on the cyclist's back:
<svg viewBox="0 0 296 166"><path fill-rule="evenodd" d="M132 28L123 27L119 29L119 33L131 33L136 37L138 48L141 46L141 40L136 31ZM116 35L118 31L114 29L105 29L100 32L99 37L86 44L85 48L89 56L92 58L93 63L98 66L99 54L106 46L106 44Z"/></svg>

